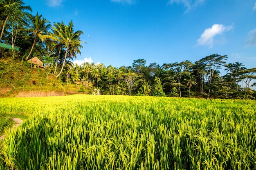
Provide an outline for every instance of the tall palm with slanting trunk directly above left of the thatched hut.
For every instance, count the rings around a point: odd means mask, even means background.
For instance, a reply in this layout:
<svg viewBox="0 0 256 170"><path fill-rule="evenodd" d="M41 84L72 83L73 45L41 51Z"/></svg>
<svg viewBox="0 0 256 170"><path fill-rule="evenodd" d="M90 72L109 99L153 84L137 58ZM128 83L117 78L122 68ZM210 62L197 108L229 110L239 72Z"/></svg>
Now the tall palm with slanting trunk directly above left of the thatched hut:
<svg viewBox="0 0 256 170"><path fill-rule="evenodd" d="M33 48L36 44L36 40L39 38L43 41L43 36L45 33L47 33L47 29L51 26L51 24L47 24L47 23L50 23L49 21L47 21L44 17L42 17L42 14L41 15L38 15L38 13L36 13L35 16L31 15L31 14L27 14L27 17L29 18L30 22L31 22L31 32L32 34L34 35L34 42L33 42L33 45L31 47L31 50L26 58L29 59L32 51L33 51Z"/></svg>

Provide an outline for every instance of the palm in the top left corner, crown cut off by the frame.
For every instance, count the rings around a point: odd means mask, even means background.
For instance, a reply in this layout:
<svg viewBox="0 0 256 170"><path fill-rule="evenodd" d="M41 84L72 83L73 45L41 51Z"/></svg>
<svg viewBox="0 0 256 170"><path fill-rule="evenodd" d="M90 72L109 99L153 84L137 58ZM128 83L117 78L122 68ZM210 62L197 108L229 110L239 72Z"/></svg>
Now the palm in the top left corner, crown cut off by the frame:
<svg viewBox="0 0 256 170"><path fill-rule="evenodd" d="M8 8L11 8L13 6L18 7L18 9L20 11L28 10L28 11L32 12L32 9L31 9L30 6L23 6L23 5L25 5L25 3L22 0L1 0L0 1L0 7L1 7L2 12L6 11ZM1 31L1 34L0 34L0 41L1 41L2 36L4 34L4 28L7 24L8 19L9 19L9 15L6 14L4 17L5 17L5 19L4 19L4 22L3 22L3 25L2 25L2 31Z"/></svg>

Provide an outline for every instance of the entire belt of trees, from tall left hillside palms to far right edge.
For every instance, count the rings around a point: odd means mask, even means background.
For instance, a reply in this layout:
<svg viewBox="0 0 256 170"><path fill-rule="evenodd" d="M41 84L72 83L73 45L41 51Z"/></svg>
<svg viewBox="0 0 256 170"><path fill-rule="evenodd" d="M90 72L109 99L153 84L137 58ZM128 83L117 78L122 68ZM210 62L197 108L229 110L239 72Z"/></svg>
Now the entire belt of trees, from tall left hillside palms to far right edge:
<svg viewBox="0 0 256 170"><path fill-rule="evenodd" d="M150 63L134 60L120 68L103 63L74 65L71 60L81 54L81 35L70 21L54 22L42 15L32 15L22 0L0 0L0 42L12 47L11 56L20 60L38 57L47 74L55 74L68 86L75 83L81 91L91 87L110 95L146 95L203 98L255 98L256 68L243 63L226 63L227 56L212 54L194 63ZM20 50L14 50L19 46ZM1 48L2 56L10 51ZM221 76L220 69L227 74ZM83 86L81 86L83 85Z"/></svg>

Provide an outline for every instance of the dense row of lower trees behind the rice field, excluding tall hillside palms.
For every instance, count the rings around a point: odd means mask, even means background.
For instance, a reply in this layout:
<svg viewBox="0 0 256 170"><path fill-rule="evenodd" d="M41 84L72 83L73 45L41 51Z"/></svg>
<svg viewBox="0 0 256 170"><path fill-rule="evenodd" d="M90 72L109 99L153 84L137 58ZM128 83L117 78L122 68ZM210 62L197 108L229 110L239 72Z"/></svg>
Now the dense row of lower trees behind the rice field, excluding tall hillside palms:
<svg viewBox="0 0 256 170"><path fill-rule="evenodd" d="M145 95L200 98L254 98L256 68L243 63L226 63L227 56L212 54L199 61L150 63L134 60L132 66L120 68L102 63L83 63L67 67L63 82L101 89L110 95ZM224 67L227 74L220 76Z"/></svg>

